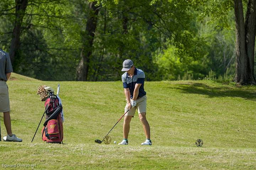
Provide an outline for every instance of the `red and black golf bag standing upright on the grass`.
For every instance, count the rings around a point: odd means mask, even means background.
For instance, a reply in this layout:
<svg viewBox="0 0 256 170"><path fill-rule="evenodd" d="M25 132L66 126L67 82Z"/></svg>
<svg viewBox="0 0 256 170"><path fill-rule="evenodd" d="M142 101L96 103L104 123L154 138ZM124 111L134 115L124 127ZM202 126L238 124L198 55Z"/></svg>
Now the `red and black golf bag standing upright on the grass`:
<svg viewBox="0 0 256 170"><path fill-rule="evenodd" d="M44 103L46 121L42 129L42 140L48 143L62 143L63 123L62 123L62 105L56 95L51 94Z"/></svg>

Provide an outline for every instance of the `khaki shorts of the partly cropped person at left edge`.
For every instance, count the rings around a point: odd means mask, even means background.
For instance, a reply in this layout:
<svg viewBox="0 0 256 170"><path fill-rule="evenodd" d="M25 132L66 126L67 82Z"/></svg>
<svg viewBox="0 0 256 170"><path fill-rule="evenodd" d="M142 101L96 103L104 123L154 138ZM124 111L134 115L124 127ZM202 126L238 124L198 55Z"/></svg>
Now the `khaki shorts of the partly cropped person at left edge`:
<svg viewBox="0 0 256 170"><path fill-rule="evenodd" d="M0 112L10 111L8 86L5 81L0 81Z"/></svg>

